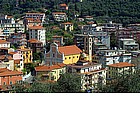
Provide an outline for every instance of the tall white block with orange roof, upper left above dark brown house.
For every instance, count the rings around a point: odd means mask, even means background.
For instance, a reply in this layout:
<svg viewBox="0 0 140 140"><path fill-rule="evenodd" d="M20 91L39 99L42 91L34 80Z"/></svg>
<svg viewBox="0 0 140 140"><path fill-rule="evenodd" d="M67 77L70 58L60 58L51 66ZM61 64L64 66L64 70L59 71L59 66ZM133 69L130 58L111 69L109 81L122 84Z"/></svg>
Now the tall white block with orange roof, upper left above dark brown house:
<svg viewBox="0 0 140 140"><path fill-rule="evenodd" d="M31 26L29 27L29 40L37 39L46 45L46 30L43 26Z"/></svg>

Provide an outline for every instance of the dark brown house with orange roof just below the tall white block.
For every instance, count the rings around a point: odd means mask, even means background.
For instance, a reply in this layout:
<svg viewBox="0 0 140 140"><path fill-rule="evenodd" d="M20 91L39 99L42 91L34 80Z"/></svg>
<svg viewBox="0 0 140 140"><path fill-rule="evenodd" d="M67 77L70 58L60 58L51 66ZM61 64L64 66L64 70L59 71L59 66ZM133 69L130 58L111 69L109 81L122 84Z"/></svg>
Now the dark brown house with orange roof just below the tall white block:
<svg viewBox="0 0 140 140"><path fill-rule="evenodd" d="M43 43L37 39L28 40L28 47L33 50L33 53L39 53L43 51Z"/></svg>

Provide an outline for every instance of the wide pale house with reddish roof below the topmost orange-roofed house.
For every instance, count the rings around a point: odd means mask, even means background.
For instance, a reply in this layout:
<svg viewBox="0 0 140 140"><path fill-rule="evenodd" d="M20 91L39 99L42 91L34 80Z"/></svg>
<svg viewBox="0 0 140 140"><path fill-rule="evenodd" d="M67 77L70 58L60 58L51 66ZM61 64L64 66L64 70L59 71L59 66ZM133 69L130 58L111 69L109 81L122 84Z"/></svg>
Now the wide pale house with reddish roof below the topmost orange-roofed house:
<svg viewBox="0 0 140 140"><path fill-rule="evenodd" d="M52 16L53 16L53 19L58 22L66 21L68 19L66 13L64 12L53 12Z"/></svg>

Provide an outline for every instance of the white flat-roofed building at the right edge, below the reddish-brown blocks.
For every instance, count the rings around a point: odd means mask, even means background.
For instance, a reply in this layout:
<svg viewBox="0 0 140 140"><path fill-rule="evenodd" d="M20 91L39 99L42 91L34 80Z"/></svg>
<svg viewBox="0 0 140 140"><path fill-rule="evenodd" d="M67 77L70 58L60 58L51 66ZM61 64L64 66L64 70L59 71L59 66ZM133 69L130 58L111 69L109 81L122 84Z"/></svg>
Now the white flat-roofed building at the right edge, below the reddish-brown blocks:
<svg viewBox="0 0 140 140"><path fill-rule="evenodd" d="M119 48L122 48L127 51L138 51L139 44L134 39L119 39Z"/></svg>

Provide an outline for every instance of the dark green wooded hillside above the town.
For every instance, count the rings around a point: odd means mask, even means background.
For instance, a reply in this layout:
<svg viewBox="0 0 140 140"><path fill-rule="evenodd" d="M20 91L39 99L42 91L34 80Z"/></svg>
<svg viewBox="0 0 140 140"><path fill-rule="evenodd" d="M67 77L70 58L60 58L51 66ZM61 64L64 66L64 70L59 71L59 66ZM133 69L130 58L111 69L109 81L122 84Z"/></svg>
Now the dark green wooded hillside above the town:
<svg viewBox="0 0 140 140"><path fill-rule="evenodd" d="M80 16L91 15L96 20L112 19L115 22L133 23L140 21L140 1L139 0L0 0L0 12L13 14L16 17L27 11L43 11L49 9L58 11L58 4L67 3L69 5L69 18L72 19L74 13Z"/></svg>

